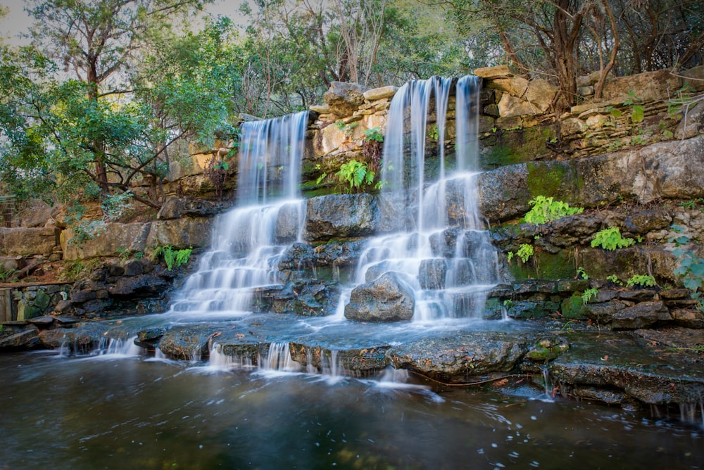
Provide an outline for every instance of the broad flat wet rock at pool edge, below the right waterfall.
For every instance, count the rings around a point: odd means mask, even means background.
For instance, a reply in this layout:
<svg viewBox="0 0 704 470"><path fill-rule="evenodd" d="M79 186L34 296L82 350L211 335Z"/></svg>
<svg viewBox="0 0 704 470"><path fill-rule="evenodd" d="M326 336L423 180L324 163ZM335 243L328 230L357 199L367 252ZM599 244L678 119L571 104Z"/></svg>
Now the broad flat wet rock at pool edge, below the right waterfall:
<svg viewBox="0 0 704 470"><path fill-rule="evenodd" d="M462 383L472 376L512 371L531 340L530 336L497 331L463 332L394 346L387 356L396 369Z"/></svg>

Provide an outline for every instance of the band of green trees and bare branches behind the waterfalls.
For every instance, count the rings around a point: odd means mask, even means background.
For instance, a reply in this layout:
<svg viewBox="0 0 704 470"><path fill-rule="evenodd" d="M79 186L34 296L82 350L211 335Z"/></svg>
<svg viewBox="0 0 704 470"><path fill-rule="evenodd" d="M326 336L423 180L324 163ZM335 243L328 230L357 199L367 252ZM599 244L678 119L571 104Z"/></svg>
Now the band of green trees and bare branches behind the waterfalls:
<svg viewBox="0 0 704 470"><path fill-rule="evenodd" d="M704 63L699 0L255 0L208 15L210 3L26 2L23 45L0 42L0 195L62 203L90 236L135 205L158 210L189 143L237 142L241 115L307 109L332 82L508 63L559 87L559 115L580 75L598 74L598 99L608 77ZM138 179L150 191L133 193Z"/></svg>

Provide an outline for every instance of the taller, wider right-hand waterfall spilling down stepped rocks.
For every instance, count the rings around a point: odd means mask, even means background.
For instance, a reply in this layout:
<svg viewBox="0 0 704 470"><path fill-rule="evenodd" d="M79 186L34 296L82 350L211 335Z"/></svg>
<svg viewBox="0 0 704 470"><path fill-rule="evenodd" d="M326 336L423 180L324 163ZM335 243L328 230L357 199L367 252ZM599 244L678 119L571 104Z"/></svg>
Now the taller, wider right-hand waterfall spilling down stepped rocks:
<svg viewBox="0 0 704 470"><path fill-rule="evenodd" d="M396 272L415 291L413 319L481 317L486 291L498 284L496 249L477 208L479 81L455 88L455 163L446 161L446 127L453 80L408 82L394 96L384 136L382 193L403 201L406 231L367 243L356 283ZM435 115L434 125L429 116ZM429 140L437 141L437 169L429 171Z"/></svg>

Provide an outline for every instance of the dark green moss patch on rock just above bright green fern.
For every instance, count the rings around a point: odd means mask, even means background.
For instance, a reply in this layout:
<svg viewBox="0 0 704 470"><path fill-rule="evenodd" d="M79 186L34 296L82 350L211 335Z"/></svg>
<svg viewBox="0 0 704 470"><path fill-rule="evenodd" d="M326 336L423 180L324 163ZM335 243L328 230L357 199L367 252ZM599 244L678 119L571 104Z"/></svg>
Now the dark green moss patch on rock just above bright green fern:
<svg viewBox="0 0 704 470"><path fill-rule="evenodd" d="M584 179L569 162L529 162L528 191L532 197L552 196L568 203L577 202L576 196L584 188Z"/></svg>

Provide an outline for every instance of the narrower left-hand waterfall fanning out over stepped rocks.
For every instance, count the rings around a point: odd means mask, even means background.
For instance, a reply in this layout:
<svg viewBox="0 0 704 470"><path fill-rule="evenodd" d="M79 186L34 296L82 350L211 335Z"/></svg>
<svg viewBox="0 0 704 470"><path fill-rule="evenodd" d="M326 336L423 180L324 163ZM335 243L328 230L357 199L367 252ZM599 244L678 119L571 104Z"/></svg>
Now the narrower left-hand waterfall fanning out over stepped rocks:
<svg viewBox="0 0 704 470"><path fill-rule="evenodd" d="M237 205L213 229L213 248L184 283L172 312L233 317L251 312L253 290L279 282L277 257L301 239L299 198L308 112L245 122Z"/></svg>

